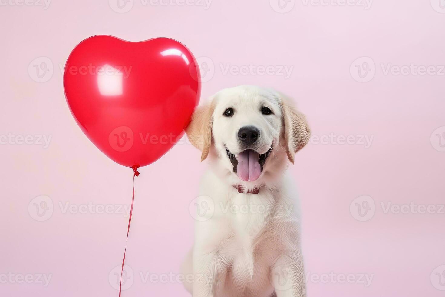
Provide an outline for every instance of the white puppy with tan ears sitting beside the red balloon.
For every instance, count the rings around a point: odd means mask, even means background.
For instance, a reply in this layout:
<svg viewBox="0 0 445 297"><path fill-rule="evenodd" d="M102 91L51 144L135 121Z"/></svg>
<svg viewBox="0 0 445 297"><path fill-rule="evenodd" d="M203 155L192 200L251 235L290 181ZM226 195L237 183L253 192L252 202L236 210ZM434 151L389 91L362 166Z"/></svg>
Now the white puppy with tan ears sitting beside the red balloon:
<svg viewBox="0 0 445 297"><path fill-rule="evenodd" d="M183 273L194 297L306 296L289 161L309 140L303 114L255 86L225 89L186 128L209 159Z"/></svg>

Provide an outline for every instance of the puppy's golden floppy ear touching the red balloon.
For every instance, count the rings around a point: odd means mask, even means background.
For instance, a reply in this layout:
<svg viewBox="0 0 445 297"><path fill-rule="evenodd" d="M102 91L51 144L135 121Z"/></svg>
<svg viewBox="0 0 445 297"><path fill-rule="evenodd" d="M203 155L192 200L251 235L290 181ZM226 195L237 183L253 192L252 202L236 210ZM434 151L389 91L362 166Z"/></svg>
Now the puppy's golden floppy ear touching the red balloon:
<svg viewBox="0 0 445 297"><path fill-rule="evenodd" d="M201 161L209 155L212 143L213 104L198 106L192 114L192 119L186 127L187 137L191 144L202 151Z"/></svg>

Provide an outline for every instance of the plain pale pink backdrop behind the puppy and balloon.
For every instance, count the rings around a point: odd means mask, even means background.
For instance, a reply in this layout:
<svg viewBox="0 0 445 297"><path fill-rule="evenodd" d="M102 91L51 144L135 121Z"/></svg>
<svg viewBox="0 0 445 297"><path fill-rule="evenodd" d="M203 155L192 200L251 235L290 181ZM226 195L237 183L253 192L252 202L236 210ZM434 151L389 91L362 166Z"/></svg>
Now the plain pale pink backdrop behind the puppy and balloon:
<svg viewBox="0 0 445 297"><path fill-rule="evenodd" d="M384 213L380 206L445 203L445 14L439 0L373 1L368 9L291 0L283 2L291 5L287 13L275 11L274 0L213 0L208 9L196 1L162 6L134 0L126 13L113 11L110 2L53 0L47 9L1 2L0 135L52 138L47 148L0 145L0 295L118 296L109 273L121 262L128 218L63 213L59 206L131 199L131 169L113 163L81 132L65 102L60 70L78 42L110 34L129 41L171 37L205 57L214 73L204 77L202 101L229 86L274 87L295 98L313 135L373 136L368 148L358 140L312 141L296 155L291 171L300 189L306 270L373 275L368 287L309 281L308 296L443 296L445 214ZM53 63L52 77L43 82L32 73L40 57ZM360 57L375 63L370 81L358 82L350 71ZM385 74L388 65L412 63L439 73ZM223 72L227 65L250 64L294 68L288 78ZM188 296L182 284L144 283L139 272L179 273L192 244L189 203L206 167L199 156L180 144L140 170L126 258L134 279L123 296ZM28 211L40 195L53 202L53 215L44 221ZM350 211L362 195L375 201L375 215L366 221ZM46 287L2 281L9 272L52 278Z"/></svg>

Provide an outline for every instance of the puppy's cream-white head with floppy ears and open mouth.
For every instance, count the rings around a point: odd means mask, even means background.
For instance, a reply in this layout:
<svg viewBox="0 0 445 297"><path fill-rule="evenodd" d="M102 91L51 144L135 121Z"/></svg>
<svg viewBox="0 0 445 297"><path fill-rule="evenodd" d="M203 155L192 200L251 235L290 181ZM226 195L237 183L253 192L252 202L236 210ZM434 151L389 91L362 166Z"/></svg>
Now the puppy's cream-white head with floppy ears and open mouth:
<svg viewBox="0 0 445 297"><path fill-rule="evenodd" d="M195 110L186 132L202 160L210 154L243 182L259 180L286 156L294 163L310 136L306 117L287 98L255 86L218 92Z"/></svg>

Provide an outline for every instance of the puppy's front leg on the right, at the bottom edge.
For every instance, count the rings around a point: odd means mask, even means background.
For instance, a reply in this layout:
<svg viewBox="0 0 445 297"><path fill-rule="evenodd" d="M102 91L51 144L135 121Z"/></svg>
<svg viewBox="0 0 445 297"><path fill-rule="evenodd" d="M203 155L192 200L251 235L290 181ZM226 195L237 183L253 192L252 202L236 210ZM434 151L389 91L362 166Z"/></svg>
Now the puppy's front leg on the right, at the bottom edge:
<svg viewBox="0 0 445 297"><path fill-rule="evenodd" d="M277 297L306 297L303 258L299 252L284 252L271 269L271 284Z"/></svg>

